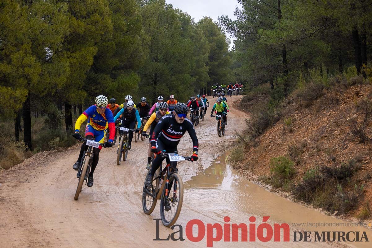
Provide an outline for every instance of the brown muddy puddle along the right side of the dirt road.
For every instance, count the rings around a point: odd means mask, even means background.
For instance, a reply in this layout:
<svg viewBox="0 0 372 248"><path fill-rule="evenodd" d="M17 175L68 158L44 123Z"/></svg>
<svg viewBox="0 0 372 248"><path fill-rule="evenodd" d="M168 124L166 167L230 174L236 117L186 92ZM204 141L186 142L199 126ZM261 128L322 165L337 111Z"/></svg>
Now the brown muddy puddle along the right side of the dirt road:
<svg viewBox="0 0 372 248"><path fill-rule="evenodd" d="M216 223L224 223L224 216L230 223L250 223L255 216L256 224L262 223L263 216L270 216L268 222L288 223L293 231L321 232L366 232L369 242L349 242L352 247L372 247L372 230L359 223L347 222L327 216L314 209L293 203L273 194L243 178L226 163L227 154L218 157L204 172L198 173L184 183L184 204L199 209L200 212L213 212ZM368 225L372 225L369 223ZM300 228L296 226L301 226ZM351 235L350 237L356 237ZM314 234L312 234L314 237ZM332 235L331 235L332 237ZM352 238L350 238L352 239ZM314 241L314 238L313 238ZM336 242L335 242L336 243ZM340 244L340 242L337 242ZM345 242L341 242L344 243ZM318 242L319 244L319 242Z"/></svg>

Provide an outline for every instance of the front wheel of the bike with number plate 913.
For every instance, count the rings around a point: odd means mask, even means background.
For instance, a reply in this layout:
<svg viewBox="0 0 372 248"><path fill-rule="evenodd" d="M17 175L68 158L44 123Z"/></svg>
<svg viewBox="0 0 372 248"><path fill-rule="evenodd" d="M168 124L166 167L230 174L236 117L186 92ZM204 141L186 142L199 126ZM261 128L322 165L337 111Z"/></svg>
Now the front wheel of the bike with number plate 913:
<svg viewBox="0 0 372 248"><path fill-rule="evenodd" d="M165 182L164 182L165 183ZM173 173L169 177L170 190L166 197L166 187L164 187L160 200L160 218L164 226L172 226L176 223L181 213L183 202L183 183L180 175ZM164 209L165 201L169 201L171 209Z"/></svg>

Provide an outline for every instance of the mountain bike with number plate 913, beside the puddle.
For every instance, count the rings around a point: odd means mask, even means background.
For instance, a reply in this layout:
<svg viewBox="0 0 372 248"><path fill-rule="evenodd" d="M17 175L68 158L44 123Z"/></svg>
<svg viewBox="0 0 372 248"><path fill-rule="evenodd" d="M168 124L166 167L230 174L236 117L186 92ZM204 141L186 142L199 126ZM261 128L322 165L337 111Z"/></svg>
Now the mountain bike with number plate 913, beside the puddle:
<svg viewBox="0 0 372 248"><path fill-rule="evenodd" d="M188 160L189 156L180 156L174 153L160 152L158 156L169 157L170 163L164 169L160 165L155 172L153 185L151 188L146 186L146 179L142 191L143 212L150 215L156 206L157 200L160 200L160 218L164 226L172 226L180 215L183 202L183 182L178 172L177 162ZM146 174L146 177L148 176ZM173 187L173 190L172 190ZM165 201L169 201L171 210L165 210Z"/></svg>

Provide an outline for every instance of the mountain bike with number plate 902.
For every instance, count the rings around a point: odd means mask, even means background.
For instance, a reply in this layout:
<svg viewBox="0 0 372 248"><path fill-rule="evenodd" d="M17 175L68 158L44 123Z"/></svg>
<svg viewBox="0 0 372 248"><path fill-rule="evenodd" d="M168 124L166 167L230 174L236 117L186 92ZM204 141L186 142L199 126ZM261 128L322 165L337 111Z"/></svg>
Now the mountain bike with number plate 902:
<svg viewBox="0 0 372 248"><path fill-rule="evenodd" d="M84 139L80 138L79 141L86 142L86 145L89 146L87 151L84 151L83 157L81 158L81 162L79 165L79 169L77 170L76 177L79 179L77 184L76 192L74 199L77 200L79 198L79 194L81 192L81 188L83 187L83 183L85 180L85 184L87 184L88 175L90 173L90 167L92 166L93 161L93 147L99 148L99 146L105 147L105 143L99 143L94 141L93 139Z"/></svg>

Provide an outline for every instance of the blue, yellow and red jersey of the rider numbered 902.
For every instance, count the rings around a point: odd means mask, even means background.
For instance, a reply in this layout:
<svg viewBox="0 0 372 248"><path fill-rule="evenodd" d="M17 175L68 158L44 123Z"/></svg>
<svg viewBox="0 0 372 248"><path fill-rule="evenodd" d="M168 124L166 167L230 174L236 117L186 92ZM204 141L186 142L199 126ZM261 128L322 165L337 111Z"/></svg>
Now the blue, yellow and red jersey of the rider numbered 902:
<svg viewBox="0 0 372 248"><path fill-rule="evenodd" d="M89 126L97 131L105 130L106 128L108 128L109 123L114 123L114 117L111 110L106 107L105 112L103 114L100 114L97 111L96 104L87 108L84 113L79 116L75 123L75 132L79 132L81 124L83 124L83 122L86 120L88 120Z"/></svg>

